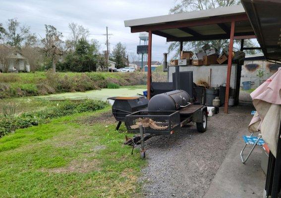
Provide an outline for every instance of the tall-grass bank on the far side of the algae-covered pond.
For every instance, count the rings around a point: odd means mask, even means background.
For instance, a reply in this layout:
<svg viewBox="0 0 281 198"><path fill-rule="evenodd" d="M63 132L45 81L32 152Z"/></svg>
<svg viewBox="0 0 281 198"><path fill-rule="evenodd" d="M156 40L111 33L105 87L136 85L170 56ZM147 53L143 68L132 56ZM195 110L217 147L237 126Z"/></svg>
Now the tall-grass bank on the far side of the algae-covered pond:
<svg viewBox="0 0 281 198"><path fill-rule="evenodd" d="M167 80L167 73L153 73L155 82ZM145 72L132 73L1 73L0 99L41 96L65 92L85 92L101 88L118 88L119 86L146 84Z"/></svg>

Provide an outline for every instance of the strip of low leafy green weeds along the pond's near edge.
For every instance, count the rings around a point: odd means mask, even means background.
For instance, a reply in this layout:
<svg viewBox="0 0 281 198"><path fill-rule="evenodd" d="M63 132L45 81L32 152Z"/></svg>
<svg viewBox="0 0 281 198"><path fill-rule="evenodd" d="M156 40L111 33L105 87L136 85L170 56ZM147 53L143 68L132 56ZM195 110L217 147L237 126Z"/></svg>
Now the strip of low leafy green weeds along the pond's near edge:
<svg viewBox="0 0 281 198"><path fill-rule="evenodd" d="M15 131L38 124L47 123L53 118L96 111L105 108L107 102L101 100L63 101L56 107L40 111L22 113L21 115L0 115L0 137Z"/></svg>

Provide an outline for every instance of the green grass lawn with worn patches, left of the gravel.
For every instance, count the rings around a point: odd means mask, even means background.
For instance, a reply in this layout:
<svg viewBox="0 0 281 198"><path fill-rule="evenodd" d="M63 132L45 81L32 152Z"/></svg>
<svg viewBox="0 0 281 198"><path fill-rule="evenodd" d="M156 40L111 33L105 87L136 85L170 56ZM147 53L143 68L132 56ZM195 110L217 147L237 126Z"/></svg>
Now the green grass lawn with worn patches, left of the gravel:
<svg viewBox="0 0 281 198"><path fill-rule="evenodd" d="M1 138L0 197L138 197L146 162L123 146L124 126L117 132L115 122L103 120L108 111L53 119Z"/></svg>

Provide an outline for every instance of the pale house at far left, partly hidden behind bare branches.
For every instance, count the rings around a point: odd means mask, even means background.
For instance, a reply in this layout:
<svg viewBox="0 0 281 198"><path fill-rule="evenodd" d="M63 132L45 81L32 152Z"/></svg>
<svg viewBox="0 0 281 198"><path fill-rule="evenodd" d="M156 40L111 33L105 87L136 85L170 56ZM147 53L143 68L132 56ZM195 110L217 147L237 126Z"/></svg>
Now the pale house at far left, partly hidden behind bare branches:
<svg viewBox="0 0 281 198"><path fill-rule="evenodd" d="M0 71L3 71L3 65L1 63ZM10 54L8 72L30 72L30 65L20 52L15 51Z"/></svg>

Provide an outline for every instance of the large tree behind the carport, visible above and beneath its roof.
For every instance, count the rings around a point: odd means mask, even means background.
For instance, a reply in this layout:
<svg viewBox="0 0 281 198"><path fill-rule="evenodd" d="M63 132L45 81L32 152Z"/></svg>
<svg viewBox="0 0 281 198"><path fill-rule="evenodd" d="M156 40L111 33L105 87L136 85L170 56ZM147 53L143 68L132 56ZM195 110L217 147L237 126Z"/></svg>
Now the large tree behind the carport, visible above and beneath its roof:
<svg viewBox="0 0 281 198"><path fill-rule="evenodd" d="M231 5L240 4L240 0L177 0L176 4L169 10L170 14L204 10L210 8L226 7ZM228 40L213 40L213 41L191 41L183 42L184 50L194 50L197 51L199 48L205 44L209 44L212 48L216 48L219 51L228 46ZM240 41L234 40L234 49L239 50ZM251 40L244 41L245 47L254 47L254 43ZM168 52L176 51L173 58L176 58L179 54L179 42L172 42L169 45ZM255 54L260 52L260 50L247 50L247 53Z"/></svg>

